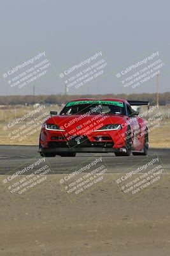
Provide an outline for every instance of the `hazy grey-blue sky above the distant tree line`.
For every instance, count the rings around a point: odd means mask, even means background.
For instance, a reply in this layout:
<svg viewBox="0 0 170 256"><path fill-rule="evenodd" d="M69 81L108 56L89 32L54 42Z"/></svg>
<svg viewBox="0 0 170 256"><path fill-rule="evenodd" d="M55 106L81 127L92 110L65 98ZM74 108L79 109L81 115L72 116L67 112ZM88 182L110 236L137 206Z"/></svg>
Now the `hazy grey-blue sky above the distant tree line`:
<svg viewBox="0 0 170 256"><path fill-rule="evenodd" d="M166 0L1 0L0 95L169 92L169 10Z"/></svg>

